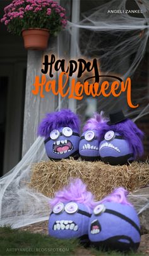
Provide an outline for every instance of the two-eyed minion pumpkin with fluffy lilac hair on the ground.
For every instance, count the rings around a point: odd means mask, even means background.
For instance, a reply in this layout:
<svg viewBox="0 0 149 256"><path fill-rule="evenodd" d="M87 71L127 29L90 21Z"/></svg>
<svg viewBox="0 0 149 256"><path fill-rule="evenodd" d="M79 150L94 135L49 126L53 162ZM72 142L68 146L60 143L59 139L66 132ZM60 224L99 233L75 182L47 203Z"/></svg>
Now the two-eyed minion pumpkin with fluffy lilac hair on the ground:
<svg viewBox="0 0 149 256"><path fill-rule="evenodd" d="M80 238L88 243L88 224L95 206L93 195L80 179L56 193L51 200L49 234L56 238Z"/></svg>

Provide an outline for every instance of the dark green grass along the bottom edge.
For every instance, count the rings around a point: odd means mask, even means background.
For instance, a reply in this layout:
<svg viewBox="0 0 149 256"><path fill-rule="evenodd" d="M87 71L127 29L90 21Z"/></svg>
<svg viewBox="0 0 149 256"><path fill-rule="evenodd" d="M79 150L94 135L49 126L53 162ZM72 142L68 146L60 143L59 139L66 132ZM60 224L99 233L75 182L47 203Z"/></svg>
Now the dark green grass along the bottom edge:
<svg viewBox="0 0 149 256"><path fill-rule="evenodd" d="M83 248L78 239L56 239L44 234L32 234L27 231L0 227L0 255L92 255L120 256L124 253L109 251L102 252L95 248ZM127 256L143 255L134 252Z"/></svg>

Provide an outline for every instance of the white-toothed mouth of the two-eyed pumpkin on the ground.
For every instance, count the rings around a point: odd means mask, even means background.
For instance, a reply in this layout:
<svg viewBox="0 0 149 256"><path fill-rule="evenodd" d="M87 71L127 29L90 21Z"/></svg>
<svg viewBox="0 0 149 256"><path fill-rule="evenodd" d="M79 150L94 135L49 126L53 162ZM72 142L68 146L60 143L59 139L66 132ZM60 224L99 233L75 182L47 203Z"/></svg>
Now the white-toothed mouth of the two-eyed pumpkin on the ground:
<svg viewBox="0 0 149 256"><path fill-rule="evenodd" d="M56 220L53 225L54 231L56 230L78 230L78 225L76 225L73 220Z"/></svg>

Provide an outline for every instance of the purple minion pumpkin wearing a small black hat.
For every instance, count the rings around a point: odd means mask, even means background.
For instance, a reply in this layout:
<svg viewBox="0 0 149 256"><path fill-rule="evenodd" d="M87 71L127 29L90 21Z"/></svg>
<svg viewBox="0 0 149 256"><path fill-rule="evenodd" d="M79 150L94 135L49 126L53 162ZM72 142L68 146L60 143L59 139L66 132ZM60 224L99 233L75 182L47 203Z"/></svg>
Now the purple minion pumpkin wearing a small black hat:
<svg viewBox="0 0 149 256"><path fill-rule="evenodd" d="M110 121L99 131L100 158L110 165L124 165L143 154L143 132L122 111L110 114Z"/></svg>

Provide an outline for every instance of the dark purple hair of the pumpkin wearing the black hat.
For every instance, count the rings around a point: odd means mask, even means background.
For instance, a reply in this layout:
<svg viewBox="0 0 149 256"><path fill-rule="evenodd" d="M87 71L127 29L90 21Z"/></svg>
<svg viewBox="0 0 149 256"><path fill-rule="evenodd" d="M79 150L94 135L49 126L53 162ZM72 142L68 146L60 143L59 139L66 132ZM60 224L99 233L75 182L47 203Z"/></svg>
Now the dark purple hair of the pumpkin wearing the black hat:
<svg viewBox="0 0 149 256"><path fill-rule="evenodd" d="M107 125L107 123L105 123L99 130L99 136L103 138L105 133L110 130L119 133L127 140L129 147L134 154L134 159L143 155L142 140L144 133L133 123L133 121L131 121L131 119L127 118L125 121L117 123L116 125Z"/></svg>

